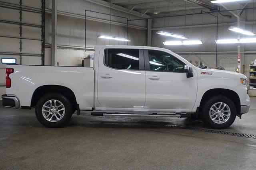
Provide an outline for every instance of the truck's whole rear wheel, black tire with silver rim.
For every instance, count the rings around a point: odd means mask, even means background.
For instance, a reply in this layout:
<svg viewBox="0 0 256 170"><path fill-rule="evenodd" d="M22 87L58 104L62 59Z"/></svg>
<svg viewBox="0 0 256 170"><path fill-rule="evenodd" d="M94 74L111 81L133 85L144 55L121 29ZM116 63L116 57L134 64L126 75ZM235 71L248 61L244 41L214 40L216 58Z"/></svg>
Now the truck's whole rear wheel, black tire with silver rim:
<svg viewBox="0 0 256 170"><path fill-rule="evenodd" d="M63 127L72 113L70 101L62 94L46 94L36 104L36 118L46 127Z"/></svg>

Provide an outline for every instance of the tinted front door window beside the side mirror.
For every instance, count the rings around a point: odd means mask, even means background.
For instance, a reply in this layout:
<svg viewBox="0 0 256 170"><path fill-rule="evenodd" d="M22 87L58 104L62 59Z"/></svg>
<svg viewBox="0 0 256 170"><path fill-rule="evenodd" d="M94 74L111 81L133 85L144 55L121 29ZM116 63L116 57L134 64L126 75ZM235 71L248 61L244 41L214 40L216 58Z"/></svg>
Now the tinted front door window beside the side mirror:
<svg viewBox="0 0 256 170"><path fill-rule="evenodd" d="M184 63L168 53L148 50L148 56L152 71L184 72Z"/></svg>

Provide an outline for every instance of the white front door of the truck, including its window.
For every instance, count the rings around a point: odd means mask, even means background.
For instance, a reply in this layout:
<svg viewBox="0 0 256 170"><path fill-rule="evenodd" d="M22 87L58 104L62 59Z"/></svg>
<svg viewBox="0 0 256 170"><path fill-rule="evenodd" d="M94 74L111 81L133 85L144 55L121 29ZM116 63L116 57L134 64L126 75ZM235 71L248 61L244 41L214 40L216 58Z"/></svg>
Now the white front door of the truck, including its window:
<svg viewBox="0 0 256 170"><path fill-rule="evenodd" d="M190 112L197 93L197 74L187 78L184 63L173 55L144 50L146 68L146 103L154 111Z"/></svg>

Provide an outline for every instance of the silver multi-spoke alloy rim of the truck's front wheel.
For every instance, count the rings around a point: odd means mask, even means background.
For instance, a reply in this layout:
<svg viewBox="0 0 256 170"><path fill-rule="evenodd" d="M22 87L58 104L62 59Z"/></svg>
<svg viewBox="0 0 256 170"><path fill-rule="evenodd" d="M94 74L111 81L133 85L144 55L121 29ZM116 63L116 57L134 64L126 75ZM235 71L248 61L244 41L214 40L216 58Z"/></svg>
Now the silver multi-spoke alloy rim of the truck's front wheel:
<svg viewBox="0 0 256 170"><path fill-rule="evenodd" d="M218 102L210 108L210 118L214 123L222 124L230 118L230 108L223 102Z"/></svg>

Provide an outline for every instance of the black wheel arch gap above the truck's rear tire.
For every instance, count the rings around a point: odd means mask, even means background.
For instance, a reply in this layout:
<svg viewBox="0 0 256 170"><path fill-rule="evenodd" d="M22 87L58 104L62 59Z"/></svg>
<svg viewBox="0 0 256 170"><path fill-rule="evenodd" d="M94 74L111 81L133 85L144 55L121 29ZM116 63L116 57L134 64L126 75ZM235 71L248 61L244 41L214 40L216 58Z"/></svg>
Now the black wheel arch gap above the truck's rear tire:
<svg viewBox="0 0 256 170"><path fill-rule="evenodd" d="M36 90L34 91L33 95L32 95L32 99L31 99L31 107L36 106L38 100L47 93L51 93L51 92L56 92L56 93L60 93L64 96L66 96L71 104L72 104L72 108L73 110L77 110L79 108L77 108L77 102L76 102L76 96L74 94L74 92L65 86L60 86L60 85L44 85L44 86L40 86L38 88L36 88Z"/></svg>

